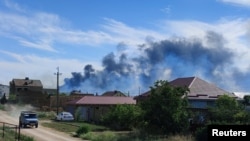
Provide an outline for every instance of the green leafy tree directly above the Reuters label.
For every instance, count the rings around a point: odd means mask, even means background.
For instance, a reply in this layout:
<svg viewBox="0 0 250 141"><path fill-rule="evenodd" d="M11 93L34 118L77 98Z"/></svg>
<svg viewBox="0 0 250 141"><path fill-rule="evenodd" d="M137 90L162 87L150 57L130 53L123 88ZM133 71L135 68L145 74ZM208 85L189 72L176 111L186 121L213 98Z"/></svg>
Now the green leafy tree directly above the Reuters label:
<svg viewBox="0 0 250 141"><path fill-rule="evenodd" d="M244 102L243 102L244 103ZM244 108L242 102L234 97L222 95L215 101L215 106L208 109L208 124L249 124L250 114ZM197 141L207 139L207 126L204 126L195 134Z"/></svg>

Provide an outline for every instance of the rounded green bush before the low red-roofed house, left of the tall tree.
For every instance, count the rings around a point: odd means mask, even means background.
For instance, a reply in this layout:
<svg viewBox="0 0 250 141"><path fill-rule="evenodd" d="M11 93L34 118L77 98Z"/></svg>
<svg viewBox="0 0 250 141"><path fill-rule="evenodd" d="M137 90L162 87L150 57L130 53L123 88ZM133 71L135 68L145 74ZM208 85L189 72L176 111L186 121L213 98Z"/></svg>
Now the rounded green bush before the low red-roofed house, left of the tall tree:
<svg viewBox="0 0 250 141"><path fill-rule="evenodd" d="M141 110L137 105L116 105L111 107L101 122L115 130L131 130L138 123Z"/></svg>

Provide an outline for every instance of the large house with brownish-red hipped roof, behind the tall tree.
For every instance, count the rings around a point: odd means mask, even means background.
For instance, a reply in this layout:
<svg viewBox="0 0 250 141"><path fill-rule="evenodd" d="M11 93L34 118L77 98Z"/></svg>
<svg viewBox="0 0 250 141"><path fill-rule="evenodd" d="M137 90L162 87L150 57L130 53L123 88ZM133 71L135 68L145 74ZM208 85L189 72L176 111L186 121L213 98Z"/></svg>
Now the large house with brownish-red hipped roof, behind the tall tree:
<svg viewBox="0 0 250 141"><path fill-rule="evenodd" d="M242 100L234 93L223 90L212 83L200 79L199 77L177 78L169 83L172 86L189 88L190 91L186 96L192 110L206 110L208 107L214 106L215 100L224 94L237 100ZM136 96L135 99L137 102L140 102L149 95L150 91L147 91L139 96Z"/></svg>

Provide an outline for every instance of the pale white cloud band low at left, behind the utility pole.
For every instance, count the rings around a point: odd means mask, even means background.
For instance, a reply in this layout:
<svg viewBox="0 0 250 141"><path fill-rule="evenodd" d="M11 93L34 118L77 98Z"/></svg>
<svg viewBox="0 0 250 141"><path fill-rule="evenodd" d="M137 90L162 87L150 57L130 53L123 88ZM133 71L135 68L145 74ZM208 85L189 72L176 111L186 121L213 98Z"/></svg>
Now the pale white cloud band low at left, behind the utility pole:
<svg viewBox="0 0 250 141"><path fill-rule="evenodd" d="M57 72L57 67L60 68L62 75L60 76L60 84L64 83L64 78L71 77L71 72L81 72L83 67L91 63L95 68L100 68L96 62L84 62L76 59L63 59L63 58L49 58L39 57L30 54L16 54L0 50L0 53L8 55L16 61L2 61L0 60L1 66L1 82L8 85L7 83L13 78L25 78L30 77L31 79L40 79L46 88L56 87L56 76L54 73Z"/></svg>

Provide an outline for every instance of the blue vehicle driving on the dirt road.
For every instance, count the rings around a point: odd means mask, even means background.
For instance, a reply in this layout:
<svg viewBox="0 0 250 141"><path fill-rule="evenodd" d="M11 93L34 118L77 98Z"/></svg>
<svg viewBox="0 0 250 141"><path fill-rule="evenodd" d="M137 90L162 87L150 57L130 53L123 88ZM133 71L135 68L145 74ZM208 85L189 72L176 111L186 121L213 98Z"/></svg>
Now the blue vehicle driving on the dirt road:
<svg viewBox="0 0 250 141"><path fill-rule="evenodd" d="M21 111L19 116L19 127L36 127L38 128L37 113L34 111Z"/></svg>

